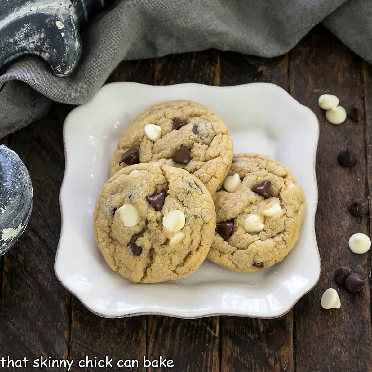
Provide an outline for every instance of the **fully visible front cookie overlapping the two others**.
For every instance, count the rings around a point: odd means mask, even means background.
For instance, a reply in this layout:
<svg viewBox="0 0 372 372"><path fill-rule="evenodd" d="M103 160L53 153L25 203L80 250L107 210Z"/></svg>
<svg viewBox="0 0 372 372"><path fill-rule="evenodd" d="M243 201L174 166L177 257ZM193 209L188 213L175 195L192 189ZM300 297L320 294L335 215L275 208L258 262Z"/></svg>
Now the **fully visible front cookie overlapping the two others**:
<svg viewBox="0 0 372 372"><path fill-rule="evenodd" d="M203 183L186 170L155 162L111 177L93 214L96 243L111 269L141 283L193 273L208 254L215 225Z"/></svg>

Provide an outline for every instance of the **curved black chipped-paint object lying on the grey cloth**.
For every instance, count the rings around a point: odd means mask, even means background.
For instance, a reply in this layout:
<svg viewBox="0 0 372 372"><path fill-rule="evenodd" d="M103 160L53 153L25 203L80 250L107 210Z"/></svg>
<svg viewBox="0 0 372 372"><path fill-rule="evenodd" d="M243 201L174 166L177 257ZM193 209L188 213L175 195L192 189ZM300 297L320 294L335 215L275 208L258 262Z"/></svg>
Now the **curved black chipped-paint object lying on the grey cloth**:
<svg viewBox="0 0 372 372"><path fill-rule="evenodd" d="M0 70L25 54L44 58L57 76L67 76L81 55L78 27L105 0L0 0Z"/></svg>

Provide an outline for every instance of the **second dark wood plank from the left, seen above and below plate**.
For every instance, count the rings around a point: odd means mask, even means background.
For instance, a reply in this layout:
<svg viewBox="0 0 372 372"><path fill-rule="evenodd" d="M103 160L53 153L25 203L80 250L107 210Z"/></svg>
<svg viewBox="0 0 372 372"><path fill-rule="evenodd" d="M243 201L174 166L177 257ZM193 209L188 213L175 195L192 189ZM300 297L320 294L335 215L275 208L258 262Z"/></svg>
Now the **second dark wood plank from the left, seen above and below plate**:
<svg viewBox="0 0 372 372"><path fill-rule="evenodd" d="M153 61L124 61L113 71L107 82L137 81L153 83ZM72 300L71 344L70 358L80 360L89 356L104 359L139 358L139 369L142 368L146 355L146 316L132 317L121 320L105 319L93 315L80 304L78 299ZM114 365L113 365L114 366ZM74 363L72 371L81 371ZM86 368L84 371L98 371L99 368ZM115 369L114 369L115 370Z"/></svg>

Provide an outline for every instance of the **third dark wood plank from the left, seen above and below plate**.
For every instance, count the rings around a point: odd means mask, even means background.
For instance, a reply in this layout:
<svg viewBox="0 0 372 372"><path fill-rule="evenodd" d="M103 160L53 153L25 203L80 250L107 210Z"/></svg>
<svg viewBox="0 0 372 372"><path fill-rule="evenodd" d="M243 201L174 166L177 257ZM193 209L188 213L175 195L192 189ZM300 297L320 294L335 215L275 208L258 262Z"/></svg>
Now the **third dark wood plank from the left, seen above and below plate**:
<svg viewBox="0 0 372 372"><path fill-rule="evenodd" d="M218 52L213 50L170 55L154 61L155 84L215 84L218 79ZM177 371L218 372L219 317L185 320L150 315L148 355L174 359ZM150 371L158 370L150 368ZM168 370L172 369L161 369Z"/></svg>

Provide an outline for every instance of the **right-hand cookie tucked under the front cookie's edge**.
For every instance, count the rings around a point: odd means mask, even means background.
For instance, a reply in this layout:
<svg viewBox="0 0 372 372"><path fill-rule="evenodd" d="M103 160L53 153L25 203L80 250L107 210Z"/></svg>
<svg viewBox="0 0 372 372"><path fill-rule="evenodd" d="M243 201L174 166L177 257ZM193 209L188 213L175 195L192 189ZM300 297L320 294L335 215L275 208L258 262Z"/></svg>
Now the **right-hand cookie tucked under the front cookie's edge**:
<svg viewBox="0 0 372 372"><path fill-rule="evenodd" d="M268 156L238 154L223 184L213 197L217 226L208 260L236 272L282 261L305 217L304 192L293 174Z"/></svg>

